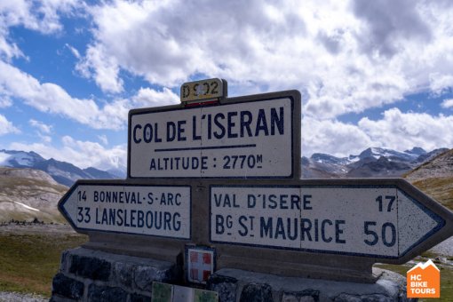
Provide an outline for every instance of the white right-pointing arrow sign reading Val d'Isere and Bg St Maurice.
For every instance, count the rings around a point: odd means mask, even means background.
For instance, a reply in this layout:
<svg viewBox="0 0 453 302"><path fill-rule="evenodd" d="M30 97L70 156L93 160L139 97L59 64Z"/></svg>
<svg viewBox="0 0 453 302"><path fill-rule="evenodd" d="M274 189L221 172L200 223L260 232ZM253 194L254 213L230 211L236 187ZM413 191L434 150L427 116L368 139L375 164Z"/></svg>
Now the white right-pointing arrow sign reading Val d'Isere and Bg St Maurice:
<svg viewBox="0 0 453 302"><path fill-rule="evenodd" d="M401 258L445 225L391 186L211 187L211 242Z"/></svg>

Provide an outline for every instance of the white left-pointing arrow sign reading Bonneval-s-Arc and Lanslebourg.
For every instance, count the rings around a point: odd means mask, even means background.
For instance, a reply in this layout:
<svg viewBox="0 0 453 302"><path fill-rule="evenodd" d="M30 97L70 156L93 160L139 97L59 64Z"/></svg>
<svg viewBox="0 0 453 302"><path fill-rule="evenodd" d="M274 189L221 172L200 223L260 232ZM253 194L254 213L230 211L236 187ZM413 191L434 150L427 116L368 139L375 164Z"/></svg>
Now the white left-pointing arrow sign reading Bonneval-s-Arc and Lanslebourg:
<svg viewBox="0 0 453 302"><path fill-rule="evenodd" d="M76 231L190 239L190 191L189 186L76 183L59 210Z"/></svg>

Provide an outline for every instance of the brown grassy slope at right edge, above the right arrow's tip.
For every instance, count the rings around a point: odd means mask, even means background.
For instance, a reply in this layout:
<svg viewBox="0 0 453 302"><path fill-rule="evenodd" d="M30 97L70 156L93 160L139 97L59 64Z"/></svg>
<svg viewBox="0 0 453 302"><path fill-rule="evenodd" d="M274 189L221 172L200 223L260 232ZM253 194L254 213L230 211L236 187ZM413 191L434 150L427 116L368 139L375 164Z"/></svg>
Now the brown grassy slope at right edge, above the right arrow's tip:
<svg viewBox="0 0 453 302"><path fill-rule="evenodd" d="M414 186L453 210L453 149L404 175Z"/></svg>

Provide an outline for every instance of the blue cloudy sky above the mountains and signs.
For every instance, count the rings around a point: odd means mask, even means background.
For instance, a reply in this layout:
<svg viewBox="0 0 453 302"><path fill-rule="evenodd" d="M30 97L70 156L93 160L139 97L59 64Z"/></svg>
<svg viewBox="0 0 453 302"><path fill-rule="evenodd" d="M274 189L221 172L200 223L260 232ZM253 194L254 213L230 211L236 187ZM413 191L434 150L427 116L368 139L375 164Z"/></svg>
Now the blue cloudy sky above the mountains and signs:
<svg viewBox="0 0 453 302"><path fill-rule="evenodd" d="M0 149L125 170L131 108L296 89L302 155L453 147L453 1L0 1Z"/></svg>

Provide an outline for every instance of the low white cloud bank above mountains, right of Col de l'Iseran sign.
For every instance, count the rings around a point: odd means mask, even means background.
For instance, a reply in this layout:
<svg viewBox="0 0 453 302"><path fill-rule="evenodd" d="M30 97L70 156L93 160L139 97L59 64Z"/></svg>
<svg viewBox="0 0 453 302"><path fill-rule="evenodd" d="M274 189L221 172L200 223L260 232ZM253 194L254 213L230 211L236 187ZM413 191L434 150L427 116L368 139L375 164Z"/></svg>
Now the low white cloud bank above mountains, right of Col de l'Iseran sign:
<svg viewBox="0 0 453 302"><path fill-rule="evenodd" d="M411 147L433 150L453 147L453 115L402 113L386 110L381 119L362 118L357 124L336 120L302 119L302 154L357 155L368 147L388 147L404 151Z"/></svg>

